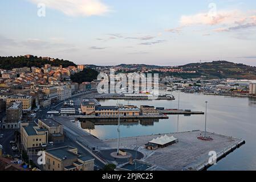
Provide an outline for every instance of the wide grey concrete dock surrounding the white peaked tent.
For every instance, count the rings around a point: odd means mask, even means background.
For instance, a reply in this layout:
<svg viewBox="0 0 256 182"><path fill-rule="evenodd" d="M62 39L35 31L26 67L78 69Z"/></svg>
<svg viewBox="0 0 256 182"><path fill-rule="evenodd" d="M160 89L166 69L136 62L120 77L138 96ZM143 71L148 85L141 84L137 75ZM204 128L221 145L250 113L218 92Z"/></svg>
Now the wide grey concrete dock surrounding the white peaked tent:
<svg viewBox="0 0 256 182"><path fill-rule="evenodd" d="M217 159L220 160L245 143L242 139L214 133L207 133L213 140L204 141L197 139L203 133L203 131L197 130L167 134L169 137L173 136L177 138L178 142L172 146L159 148L155 151L145 149L144 144L164 134L121 138L120 144L122 148L128 149L134 149L136 146L139 147L138 151L144 154L143 160L155 164L157 166L156 170L200 171L211 166L208 163L210 151L215 151L217 153ZM115 148L117 139L104 140L104 143Z"/></svg>

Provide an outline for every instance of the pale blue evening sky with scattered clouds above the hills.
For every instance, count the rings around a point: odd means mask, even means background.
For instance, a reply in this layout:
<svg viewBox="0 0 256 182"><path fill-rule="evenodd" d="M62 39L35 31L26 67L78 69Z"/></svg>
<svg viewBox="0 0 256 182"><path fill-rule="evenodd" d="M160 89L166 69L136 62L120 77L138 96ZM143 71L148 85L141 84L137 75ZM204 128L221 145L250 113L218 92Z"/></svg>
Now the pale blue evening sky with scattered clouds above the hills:
<svg viewBox="0 0 256 182"><path fill-rule="evenodd" d="M0 1L0 23L0 56L256 65L254 0L8 0Z"/></svg>

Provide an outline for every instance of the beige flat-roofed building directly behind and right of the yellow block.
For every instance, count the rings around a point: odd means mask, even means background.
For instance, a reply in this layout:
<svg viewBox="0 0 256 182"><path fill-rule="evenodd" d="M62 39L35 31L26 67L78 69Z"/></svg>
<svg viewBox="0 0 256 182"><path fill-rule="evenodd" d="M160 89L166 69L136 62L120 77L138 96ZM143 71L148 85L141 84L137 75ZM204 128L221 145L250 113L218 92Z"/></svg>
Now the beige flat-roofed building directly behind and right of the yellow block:
<svg viewBox="0 0 256 182"><path fill-rule="evenodd" d="M38 126L48 131L48 141L54 143L63 143L63 125L56 122L54 119L38 119Z"/></svg>

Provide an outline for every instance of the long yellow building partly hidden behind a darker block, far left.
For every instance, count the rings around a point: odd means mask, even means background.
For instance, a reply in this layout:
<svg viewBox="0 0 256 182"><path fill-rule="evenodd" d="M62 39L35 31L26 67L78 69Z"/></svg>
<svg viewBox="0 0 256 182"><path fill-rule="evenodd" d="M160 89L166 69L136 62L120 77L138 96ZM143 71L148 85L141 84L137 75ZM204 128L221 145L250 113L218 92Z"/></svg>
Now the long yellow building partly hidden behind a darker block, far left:
<svg viewBox="0 0 256 182"><path fill-rule="evenodd" d="M9 107L12 102L22 102L23 113L31 111L32 107L32 97L25 96L23 94L16 94L6 98L6 107Z"/></svg>

